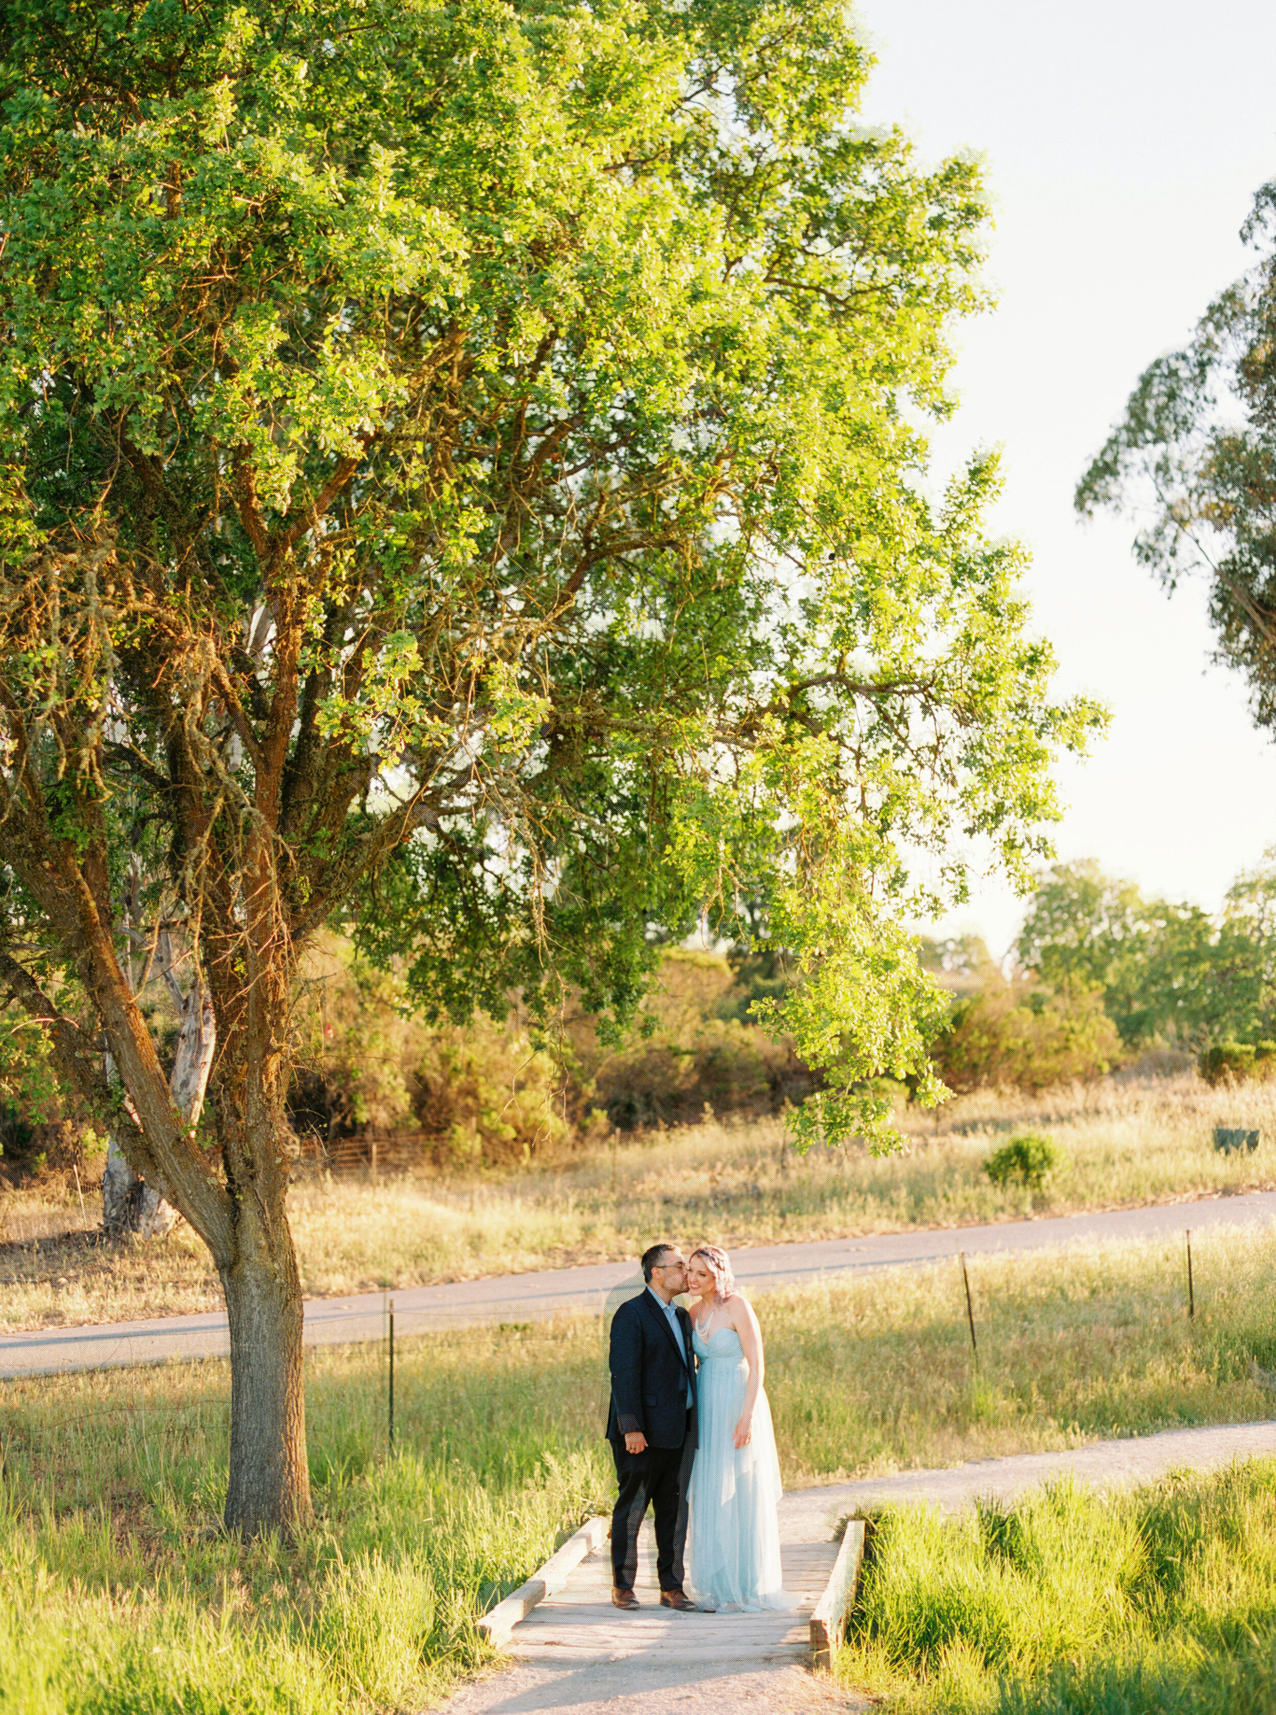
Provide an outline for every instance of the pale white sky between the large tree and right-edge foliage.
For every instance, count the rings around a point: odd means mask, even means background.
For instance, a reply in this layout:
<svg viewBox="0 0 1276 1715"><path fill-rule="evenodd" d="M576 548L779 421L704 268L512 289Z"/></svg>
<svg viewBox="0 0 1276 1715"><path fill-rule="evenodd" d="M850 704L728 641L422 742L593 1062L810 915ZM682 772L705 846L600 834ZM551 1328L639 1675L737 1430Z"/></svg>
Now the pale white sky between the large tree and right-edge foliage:
<svg viewBox="0 0 1276 1715"><path fill-rule="evenodd" d="M1032 552L1060 689L1113 712L1091 761L1060 773L1058 854L1214 909L1276 844L1276 744L1209 664L1204 588L1166 597L1130 554L1132 520L1082 525L1072 492L1139 374L1249 266L1238 228L1276 177L1276 3L861 0L859 15L878 53L863 118L904 125L926 159L978 151L996 197L1000 307L962 333L964 406L935 449L1003 444L991 530ZM990 883L945 928L1002 954L1020 918Z"/></svg>

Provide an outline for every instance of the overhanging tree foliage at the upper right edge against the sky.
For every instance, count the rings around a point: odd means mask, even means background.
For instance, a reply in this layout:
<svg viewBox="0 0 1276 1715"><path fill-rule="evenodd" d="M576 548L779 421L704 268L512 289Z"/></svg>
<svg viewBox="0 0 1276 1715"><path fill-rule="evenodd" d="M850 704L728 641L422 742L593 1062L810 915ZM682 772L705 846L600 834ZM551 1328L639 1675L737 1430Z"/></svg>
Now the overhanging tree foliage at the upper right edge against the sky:
<svg viewBox="0 0 1276 1715"><path fill-rule="evenodd" d="M1192 341L1151 364L1077 487L1077 509L1141 509L1134 551L1168 588L1209 587L1218 659L1249 683L1261 727L1276 722L1276 180L1242 238L1254 268L1201 317Z"/></svg>

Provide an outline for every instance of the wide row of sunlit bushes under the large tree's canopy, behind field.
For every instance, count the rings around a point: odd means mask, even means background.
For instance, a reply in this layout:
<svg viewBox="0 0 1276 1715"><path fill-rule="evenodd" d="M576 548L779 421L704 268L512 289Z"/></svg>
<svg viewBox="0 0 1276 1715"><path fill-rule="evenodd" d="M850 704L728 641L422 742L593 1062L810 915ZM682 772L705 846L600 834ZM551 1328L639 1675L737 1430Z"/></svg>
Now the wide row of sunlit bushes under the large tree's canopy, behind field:
<svg viewBox="0 0 1276 1715"><path fill-rule="evenodd" d="M290 1118L302 1134L425 1137L437 1166L556 1159L600 1130L779 1113L815 1077L741 1010L727 960L664 948L635 1024L600 1038L576 1010L549 1051L518 1007L499 1022L427 1026L406 981L324 936L295 1008Z"/></svg>

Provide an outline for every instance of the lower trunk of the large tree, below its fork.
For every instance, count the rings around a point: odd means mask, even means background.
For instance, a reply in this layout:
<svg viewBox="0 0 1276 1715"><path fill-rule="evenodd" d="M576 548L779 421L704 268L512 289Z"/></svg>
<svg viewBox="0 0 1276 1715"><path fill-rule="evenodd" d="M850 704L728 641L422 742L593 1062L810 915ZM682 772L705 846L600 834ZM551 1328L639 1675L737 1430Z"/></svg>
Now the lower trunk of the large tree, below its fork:
<svg viewBox="0 0 1276 1715"><path fill-rule="evenodd" d="M288 1531L310 1516L302 1389L302 1281L286 1225L221 1271L230 1317L226 1530ZM273 1254L271 1254L273 1252Z"/></svg>

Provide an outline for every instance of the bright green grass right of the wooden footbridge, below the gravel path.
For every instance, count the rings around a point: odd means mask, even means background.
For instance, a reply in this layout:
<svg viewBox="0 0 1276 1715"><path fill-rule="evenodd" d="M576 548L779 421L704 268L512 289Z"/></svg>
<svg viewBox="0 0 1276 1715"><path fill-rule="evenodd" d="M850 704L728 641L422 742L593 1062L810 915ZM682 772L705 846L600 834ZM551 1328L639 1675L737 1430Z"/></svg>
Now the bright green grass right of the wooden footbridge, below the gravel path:
<svg viewBox="0 0 1276 1715"><path fill-rule="evenodd" d="M875 1519L837 1677L916 1715L1269 1715L1276 1459Z"/></svg>

